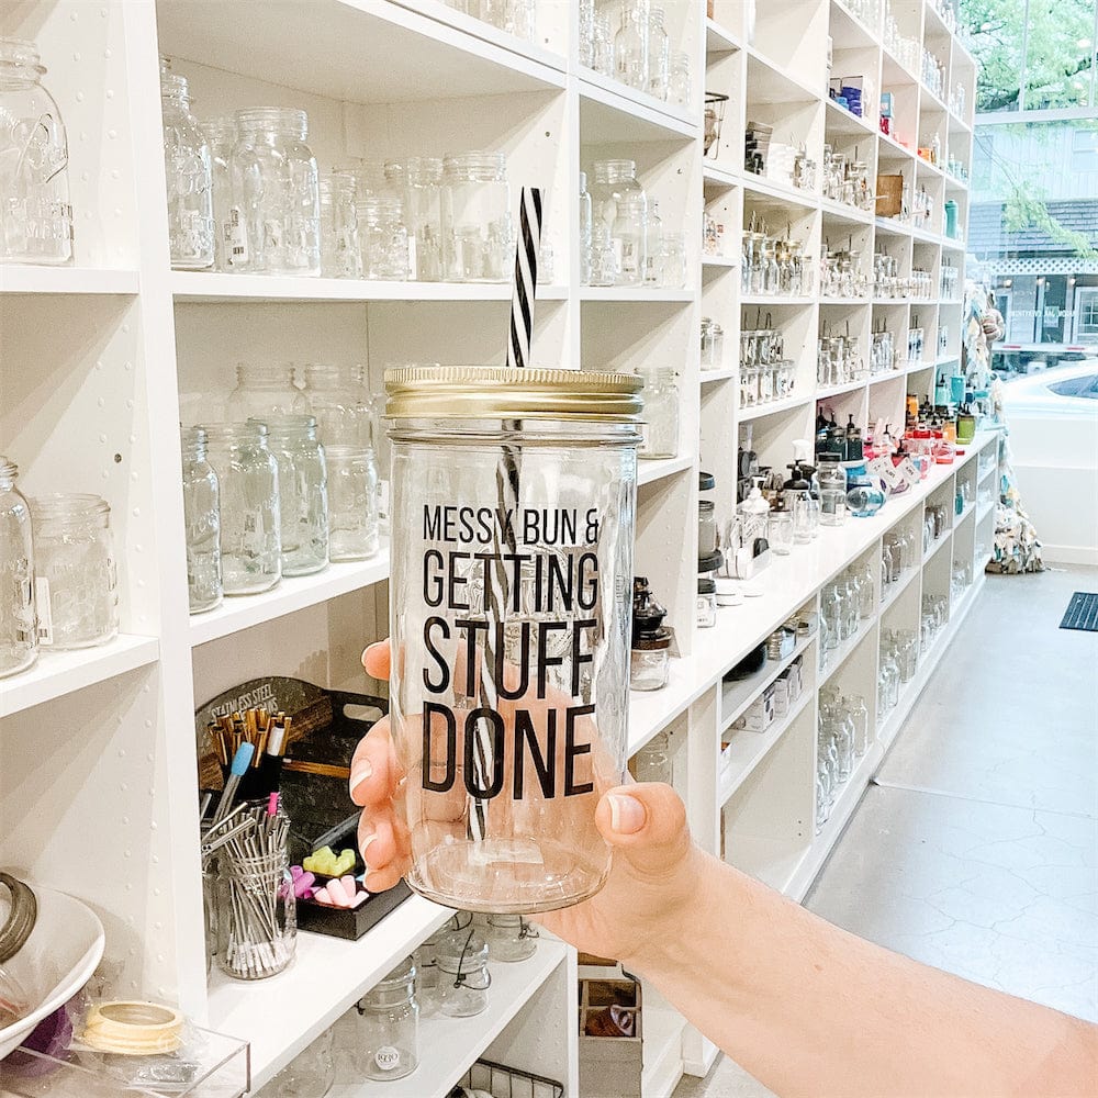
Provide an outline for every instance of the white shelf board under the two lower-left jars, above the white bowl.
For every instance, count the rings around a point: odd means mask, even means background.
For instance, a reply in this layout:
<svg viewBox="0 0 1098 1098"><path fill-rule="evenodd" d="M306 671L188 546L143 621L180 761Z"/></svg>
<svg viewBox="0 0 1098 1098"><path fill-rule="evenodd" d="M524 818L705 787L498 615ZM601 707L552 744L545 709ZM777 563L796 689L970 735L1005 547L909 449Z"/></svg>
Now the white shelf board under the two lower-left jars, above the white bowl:
<svg viewBox="0 0 1098 1098"><path fill-rule="evenodd" d="M159 657L160 642L156 637L130 634L120 634L98 648L72 652L41 649L34 666L10 679L0 679L0 717L148 666Z"/></svg>

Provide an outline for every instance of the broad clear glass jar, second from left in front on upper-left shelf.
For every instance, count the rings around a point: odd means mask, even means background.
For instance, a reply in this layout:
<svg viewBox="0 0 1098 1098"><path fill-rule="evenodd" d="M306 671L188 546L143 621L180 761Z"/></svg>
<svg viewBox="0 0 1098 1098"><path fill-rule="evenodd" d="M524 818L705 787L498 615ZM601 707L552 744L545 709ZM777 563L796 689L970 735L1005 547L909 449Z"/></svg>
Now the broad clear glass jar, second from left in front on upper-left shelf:
<svg viewBox="0 0 1098 1098"><path fill-rule="evenodd" d="M233 270L320 274L321 191L305 112L256 107L237 111L236 125Z"/></svg>

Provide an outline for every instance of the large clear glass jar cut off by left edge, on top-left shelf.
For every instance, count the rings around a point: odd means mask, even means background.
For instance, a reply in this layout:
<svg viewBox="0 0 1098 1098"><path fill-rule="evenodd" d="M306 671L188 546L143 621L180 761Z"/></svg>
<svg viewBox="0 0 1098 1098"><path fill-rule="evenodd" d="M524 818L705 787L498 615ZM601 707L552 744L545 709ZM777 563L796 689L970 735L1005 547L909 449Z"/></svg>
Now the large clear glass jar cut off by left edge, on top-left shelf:
<svg viewBox="0 0 1098 1098"><path fill-rule="evenodd" d="M72 259L68 141L53 96L42 86L38 48L0 37L0 261Z"/></svg>

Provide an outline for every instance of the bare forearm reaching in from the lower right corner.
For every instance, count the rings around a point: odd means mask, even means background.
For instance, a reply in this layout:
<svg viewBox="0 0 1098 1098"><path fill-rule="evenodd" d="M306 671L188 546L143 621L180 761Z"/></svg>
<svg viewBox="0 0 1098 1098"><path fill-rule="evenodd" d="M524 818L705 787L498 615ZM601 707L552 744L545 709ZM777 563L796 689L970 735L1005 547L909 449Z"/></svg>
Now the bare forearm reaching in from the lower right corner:
<svg viewBox="0 0 1098 1098"><path fill-rule="evenodd" d="M701 901L630 962L777 1094L1098 1093L1098 1028L864 942L716 860L704 870Z"/></svg>

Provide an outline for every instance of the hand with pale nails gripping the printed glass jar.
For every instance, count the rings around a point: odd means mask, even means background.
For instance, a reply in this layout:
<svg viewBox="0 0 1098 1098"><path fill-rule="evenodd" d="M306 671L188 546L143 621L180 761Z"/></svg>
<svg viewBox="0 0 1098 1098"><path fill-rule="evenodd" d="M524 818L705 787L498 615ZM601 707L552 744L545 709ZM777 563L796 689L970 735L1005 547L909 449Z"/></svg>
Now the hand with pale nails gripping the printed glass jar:
<svg viewBox="0 0 1098 1098"><path fill-rule="evenodd" d="M390 660L388 641L362 653L374 679L389 677ZM407 872L412 853L407 826L393 805L404 775L388 718L359 742L350 772L350 796L362 808L358 841L366 887L383 892ZM606 791L595 825L613 848L605 886L582 904L536 919L584 952L642 965L681 931L681 912L696 907L706 855L694 845L685 806L668 785Z"/></svg>

